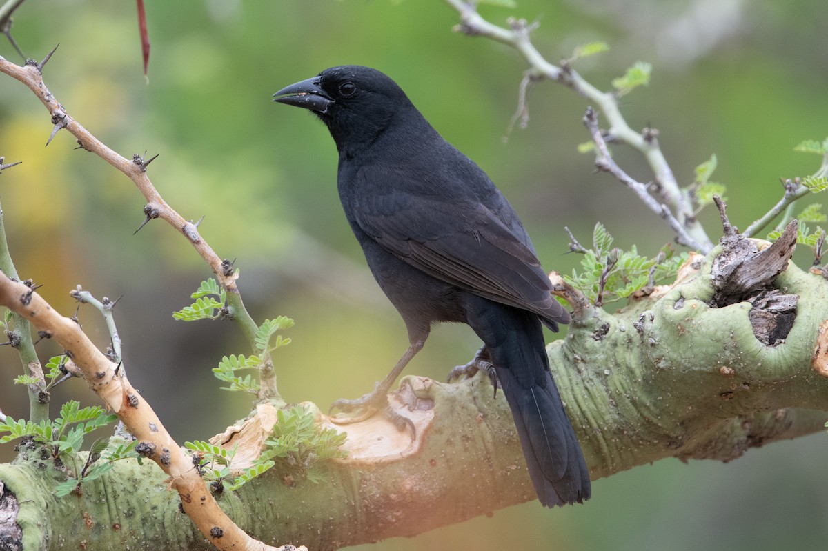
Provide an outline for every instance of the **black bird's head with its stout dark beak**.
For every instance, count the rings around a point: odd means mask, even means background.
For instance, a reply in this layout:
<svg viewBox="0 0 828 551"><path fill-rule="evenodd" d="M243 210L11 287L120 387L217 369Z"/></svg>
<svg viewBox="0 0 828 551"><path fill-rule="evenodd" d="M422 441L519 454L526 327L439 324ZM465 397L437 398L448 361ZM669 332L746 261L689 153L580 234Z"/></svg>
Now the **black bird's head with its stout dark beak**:
<svg viewBox="0 0 828 551"><path fill-rule="evenodd" d="M327 125L339 151L373 142L401 109L406 94L377 69L344 65L273 94L273 101L309 109Z"/></svg>

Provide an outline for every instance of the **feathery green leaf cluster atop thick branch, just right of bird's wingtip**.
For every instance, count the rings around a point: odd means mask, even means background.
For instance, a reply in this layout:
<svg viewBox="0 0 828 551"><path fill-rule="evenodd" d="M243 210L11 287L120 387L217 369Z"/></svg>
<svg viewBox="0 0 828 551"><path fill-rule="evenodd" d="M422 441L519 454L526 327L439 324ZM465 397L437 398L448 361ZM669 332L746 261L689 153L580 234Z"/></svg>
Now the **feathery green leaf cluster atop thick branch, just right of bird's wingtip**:
<svg viewBox="0 0 828 551"><path fill-rule="evenodd" d="M586 249L580 261L582 271L563 275L569 285L580 290L593 304L626 299L647 285L674 278L686 253L676 254L671 245L662 248L653 258L638 254L633 245L628 251L613 247L614 237L596 223L592 248Z"/></svg>

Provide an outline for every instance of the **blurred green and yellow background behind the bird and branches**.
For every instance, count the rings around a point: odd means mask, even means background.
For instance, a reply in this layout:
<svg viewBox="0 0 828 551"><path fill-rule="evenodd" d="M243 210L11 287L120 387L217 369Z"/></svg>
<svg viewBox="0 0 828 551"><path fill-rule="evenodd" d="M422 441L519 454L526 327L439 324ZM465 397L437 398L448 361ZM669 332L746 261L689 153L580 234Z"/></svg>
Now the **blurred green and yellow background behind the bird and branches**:
<svg viewBox="0 0 828 551"><path fill-rule="evenodd" d="M500 24L537 18L534 41L553 62L579 44L608 42L612 50L576 66L602 89L634 61L652 62L652 83L623 98L623 113L633 128L661 131L682 184L715 153L714 180L729 186L740 228L779 199L779 177L818 167L792 147L828 134L824 0L522 0L516 10L481 12ZM125 156L161 154L149 170L154 184L185 218L205 216L200 231L235 259L254 318L296 319L293 343L274 358L286 400L325 406L362 395L407 345L341 213L330 136L302 110L270 101L330 65L371 65L396 79L511 199L547 269L578 265L565 254L565 225L590 242L601 221L616 244L649 255L672 240L660 218L576 153L588 140L586 103L569 89L539 84L529 127L504 139L522 60L452 32L458 18L443 2L150 1L147 18L148 81L133 2L29 0L12 31L37 60L60 43L46 84L99 139ZM22 62L3 40L0 55ZM115 313L133 384L180 442L209 438L248 408L209 371L222 355L247 352L238 329L171 318L209 271L163 223L133 236L140 194L103 161L73 151L66 132L44 148L49 119L28 89L0 77L0 155L23 161L0 176L17 270L44 284L42 295L65 314L75 312L68 291L77 284L123 295ZM652 178L638 154L621 146L614 154L633 176ZM715 240L718 217L701 218ZM108 343L92 309L79 319ZM407 373L442 379L478 345L468 328L436 328ZM44 358L56 353L38 346ZM3 347L0 409L15 418L28 412L25 392L10 382L20 371ZM55 392L55 410L69 397L95 403L70 381ZM550 511L536 501L359 549L825 549L826 453L817 434L729 464L663 461L595 482L588 505ZM12 456L11 445L0 448L0 458Z"/></svg>

